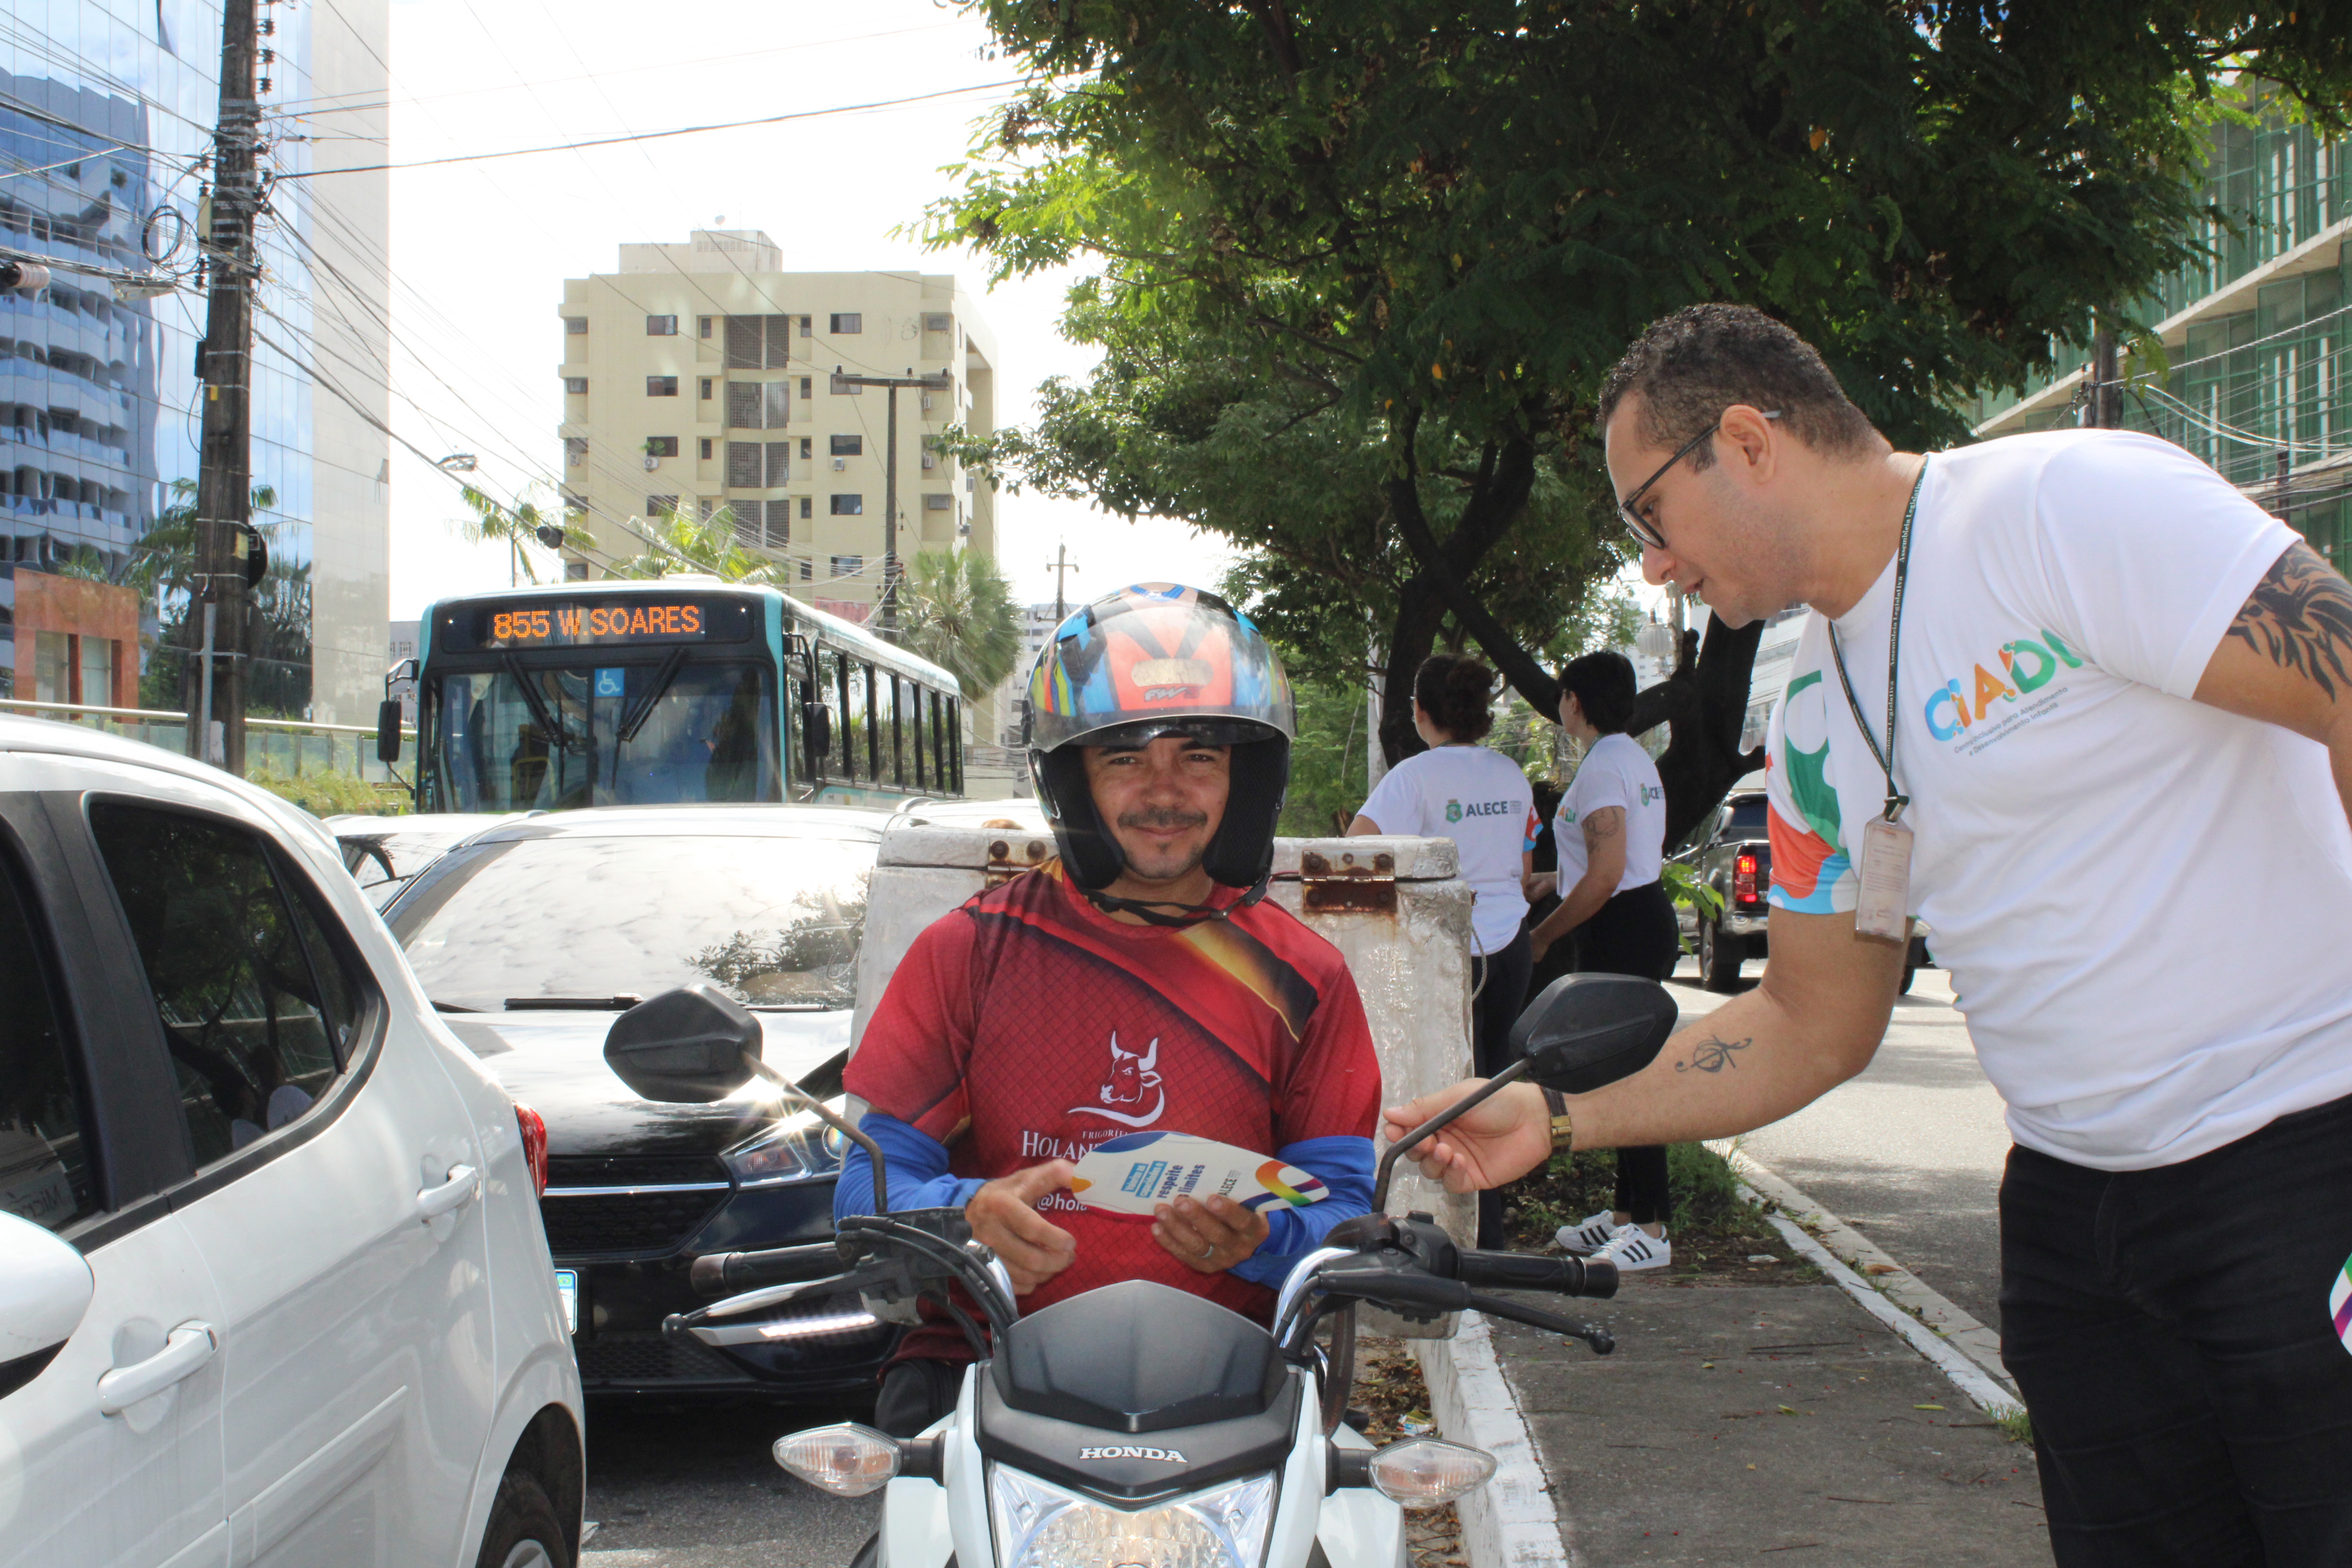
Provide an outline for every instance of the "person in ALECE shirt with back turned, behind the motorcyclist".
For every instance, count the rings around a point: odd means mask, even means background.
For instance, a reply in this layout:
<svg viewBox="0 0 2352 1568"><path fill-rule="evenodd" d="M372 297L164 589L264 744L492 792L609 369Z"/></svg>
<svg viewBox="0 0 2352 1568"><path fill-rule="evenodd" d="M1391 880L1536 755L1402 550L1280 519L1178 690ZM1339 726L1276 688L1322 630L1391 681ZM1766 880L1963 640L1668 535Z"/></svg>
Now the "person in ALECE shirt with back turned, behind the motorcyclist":
<svg viewBox="0 0 2352 1568"><path fill-rule="evenodd" d="M1468 654L1432 654L1414 672L1414 729L1430 750L1388 769L1348 823L1348 837L1397 832L1454 839L1470 886L1470 1060L1484 1077L1510 1065L1510 1025L1526 1001L1526 891L1536 844L1536 792L1491 745L1494 670ZM1477 1244L1508 1248L1503 1199L1479 1194Z"/></svg>

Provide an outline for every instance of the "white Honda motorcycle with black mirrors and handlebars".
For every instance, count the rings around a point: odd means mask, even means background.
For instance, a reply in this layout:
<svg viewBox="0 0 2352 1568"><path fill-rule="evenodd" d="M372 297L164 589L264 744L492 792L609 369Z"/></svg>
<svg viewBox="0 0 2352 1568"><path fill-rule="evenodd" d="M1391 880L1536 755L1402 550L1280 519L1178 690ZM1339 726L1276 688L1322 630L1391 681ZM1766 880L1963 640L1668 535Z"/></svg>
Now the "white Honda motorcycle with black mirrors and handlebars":
<svg viewBox="0 0 2352 1568"><path fill-rule="evenodd" d="M746 1020L750 1030L607 1041L604 1056L647 1098L715 1100L755 1072L790 1091L760 1065L757 1023ZM875 1161L882 1213L842 1220L830 1244L699 1258L703 1291L741 1293L673 1316L670 1331L757 1342L767 1314L804 1291L858 1291L898 1321L929 1298L962 1324L976 1359L955 1410L922 1436L844 1422L776 1441L776 1462L828 1493L887 1488L882 1530L851 1568L1402 1568L1402 1509L1482 1486L1494 1458L1435 1436L1374 1450L1341 1420L1355 1305L1416 1321L1470 1307L1606 1354L1604 1328L1484 1291L1613 1295L1616 1267L1456 1248L1428 1215L1381 1213L1390 1171L1503 1084L1534 1077L1583 1093L1649 1065L1672 1027L1675 1001L1651 980L1550 985L1512 1027L1522 1058L1392 1145L1374 1213L1298 1260L1272 1331L1152 1281L1021 1316L1004 1265L962 1211L889 1213L882 1152L840 1121ZM988 1338L964 1302L988 1319ZM1315 1340L1327 1319L1329 1352Z"/></svg>

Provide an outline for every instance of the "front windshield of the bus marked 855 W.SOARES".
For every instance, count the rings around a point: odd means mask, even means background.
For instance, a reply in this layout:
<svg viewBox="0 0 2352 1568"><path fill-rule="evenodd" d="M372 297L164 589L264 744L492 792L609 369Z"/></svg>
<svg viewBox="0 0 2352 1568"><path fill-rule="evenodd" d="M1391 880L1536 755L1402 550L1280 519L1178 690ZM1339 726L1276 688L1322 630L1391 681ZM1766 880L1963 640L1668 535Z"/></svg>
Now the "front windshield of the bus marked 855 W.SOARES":
<svg viewBox="0 0 2352 1568"><path fill-rule="evenodd" d="M440 811L783 799L753 663L522 665L428 684Z"/></svg>

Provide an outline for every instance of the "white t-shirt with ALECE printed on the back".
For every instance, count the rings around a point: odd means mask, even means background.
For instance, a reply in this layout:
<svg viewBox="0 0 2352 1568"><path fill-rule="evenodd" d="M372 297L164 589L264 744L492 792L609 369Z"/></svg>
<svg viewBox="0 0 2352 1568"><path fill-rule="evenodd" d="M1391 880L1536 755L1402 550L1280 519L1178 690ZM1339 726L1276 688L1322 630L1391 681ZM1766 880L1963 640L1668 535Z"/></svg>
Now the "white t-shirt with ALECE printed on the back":
<svg viewBox="0 0 2352 1568"><path fill-rule="evenodd" d="M1526 893L1519 856L1536 846L1536 792L1491 745L1437 745L1388 769L1364 802L1381 832L1454 839L1470 884L1470 933L1479 952L1519 936Z"/></svg>

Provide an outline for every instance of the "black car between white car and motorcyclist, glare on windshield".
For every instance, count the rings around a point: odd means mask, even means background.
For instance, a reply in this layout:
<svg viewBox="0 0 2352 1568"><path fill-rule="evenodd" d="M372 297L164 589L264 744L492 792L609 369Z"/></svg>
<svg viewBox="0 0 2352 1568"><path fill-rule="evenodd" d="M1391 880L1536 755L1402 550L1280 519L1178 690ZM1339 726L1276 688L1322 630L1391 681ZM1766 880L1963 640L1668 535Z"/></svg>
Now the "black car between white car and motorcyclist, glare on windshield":
<svg viewBox="0 0 2352 1568"><path fill-rule="evenodd" d="M694 1258L833 1237L842 1145L757 1081L666 1105L602 1058L621 1011L706 980L760 1018L771 1067L837 1100L887 820L776 804L513 818L386 910L442 1023L548 1124L541 1215L590 1394L868 1389L896 1347L856 1295L795 1300L755 1345L663 1338L663 1316L703 1305Z"/></svg>

